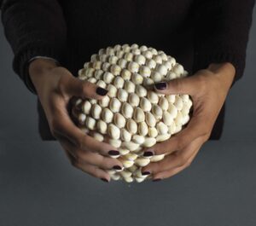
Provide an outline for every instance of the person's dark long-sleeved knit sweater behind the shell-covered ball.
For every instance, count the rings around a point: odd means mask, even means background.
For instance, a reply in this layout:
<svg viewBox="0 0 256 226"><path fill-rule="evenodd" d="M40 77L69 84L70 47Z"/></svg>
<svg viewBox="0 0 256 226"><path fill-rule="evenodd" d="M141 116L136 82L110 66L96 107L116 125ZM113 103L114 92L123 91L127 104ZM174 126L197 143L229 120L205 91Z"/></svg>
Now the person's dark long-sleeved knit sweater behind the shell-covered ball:
<svg viewBox="0 0 256 226"><path fill-rule="evenodd" d="M0 1L1 3L1 1ZM27 73L37 55L60 61L74 76L90 55L114 44L137 43L164 50L193 74L213 62L230 62L241 78L254 0L3 0L4 32L14 71L36 94ZM38 101L39 132L49 133ZM224 107L210 139L219 139Z"/></svg>

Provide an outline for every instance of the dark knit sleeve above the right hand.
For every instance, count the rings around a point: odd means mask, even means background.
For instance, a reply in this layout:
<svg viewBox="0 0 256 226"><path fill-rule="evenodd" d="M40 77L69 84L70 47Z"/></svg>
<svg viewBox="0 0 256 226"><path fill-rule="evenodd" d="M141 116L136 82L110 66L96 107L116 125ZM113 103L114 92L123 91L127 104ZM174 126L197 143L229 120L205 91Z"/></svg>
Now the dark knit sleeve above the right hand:
<svg viewBox="0 0 256 226"><path fill-rule="evenodd" d="M252 25L254 0L195 0L193 72L211 63L230 62L241 78ZM232 84L232 86L233 86Z"/></svg>

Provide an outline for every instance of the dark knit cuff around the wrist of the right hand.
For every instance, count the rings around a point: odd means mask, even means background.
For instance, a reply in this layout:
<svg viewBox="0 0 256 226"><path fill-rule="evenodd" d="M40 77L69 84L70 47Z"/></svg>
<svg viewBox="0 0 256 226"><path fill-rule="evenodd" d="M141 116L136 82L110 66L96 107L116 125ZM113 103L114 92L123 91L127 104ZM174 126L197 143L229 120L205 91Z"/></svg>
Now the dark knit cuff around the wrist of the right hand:
<svg viewBox="0 0 256 226"><path fill-rule="evenodd" d="M198 70L207 68L211 63L224 63L230 62L235 68L236 73L231 87L241 78L245 68L245 57L236 54L209 51L209 54L195 53L193 73ZM230 88L231 88L230 87Z"/></svg>

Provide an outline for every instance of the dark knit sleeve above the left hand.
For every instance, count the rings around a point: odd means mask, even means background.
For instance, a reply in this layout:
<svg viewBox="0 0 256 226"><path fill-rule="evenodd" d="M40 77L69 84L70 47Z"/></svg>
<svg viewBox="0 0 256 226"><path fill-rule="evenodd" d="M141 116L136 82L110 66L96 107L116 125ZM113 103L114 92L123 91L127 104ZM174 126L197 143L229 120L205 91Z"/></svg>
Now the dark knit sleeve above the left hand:
<svg viewBox="0 0 256 226"><path fill-rule="evenodd" d="M27 62L37 55L62 61L67 26L61 5L57 0L3 0L1 11L4 33L14 52L13 69L37 94L28 76Z"/></svg>

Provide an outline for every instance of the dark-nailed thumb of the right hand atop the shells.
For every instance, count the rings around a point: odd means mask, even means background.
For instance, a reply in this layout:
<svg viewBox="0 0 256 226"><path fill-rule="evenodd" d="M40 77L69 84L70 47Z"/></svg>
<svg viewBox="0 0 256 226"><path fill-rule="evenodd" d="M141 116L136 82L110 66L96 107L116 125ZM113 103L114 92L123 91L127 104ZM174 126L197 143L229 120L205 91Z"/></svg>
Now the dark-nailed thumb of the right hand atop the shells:
<svg viewBox="0 0 256 226"><path fill-rule="evenodd" d="M194 95L197 83L195 76L174 78L170 81L154 84L154 89L162 94L189 94Z"/></svg>

